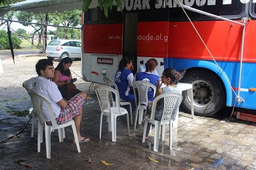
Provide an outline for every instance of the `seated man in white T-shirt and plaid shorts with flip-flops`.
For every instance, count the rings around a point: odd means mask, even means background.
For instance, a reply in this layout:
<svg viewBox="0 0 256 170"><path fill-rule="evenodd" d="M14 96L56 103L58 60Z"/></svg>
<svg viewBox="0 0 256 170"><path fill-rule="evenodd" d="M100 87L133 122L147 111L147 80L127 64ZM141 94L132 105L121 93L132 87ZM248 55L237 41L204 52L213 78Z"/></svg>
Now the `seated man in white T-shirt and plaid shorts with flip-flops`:
<svg viewBox="0 0 256 170"><path fill-rule="evenodd" d="M87 94L81 92L70 100L65 100L62 98L56 83L49 81L54 77L54 72L52 61L49 59L40 59L38 63L36 63L36 73L38 76L24 81L23 86L50 102L58 125L72 119L75 121L79 143L90 141L90 138L82 137L80 134L83 104L84 100L87 98ZM44 114L47 124L51 125L49 113L45 105L42 106L42 113ZM75 141L73 142L75 143Z"/></svg>

